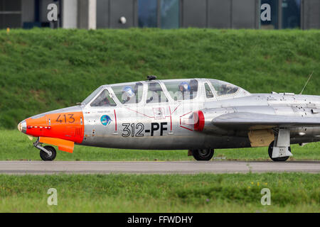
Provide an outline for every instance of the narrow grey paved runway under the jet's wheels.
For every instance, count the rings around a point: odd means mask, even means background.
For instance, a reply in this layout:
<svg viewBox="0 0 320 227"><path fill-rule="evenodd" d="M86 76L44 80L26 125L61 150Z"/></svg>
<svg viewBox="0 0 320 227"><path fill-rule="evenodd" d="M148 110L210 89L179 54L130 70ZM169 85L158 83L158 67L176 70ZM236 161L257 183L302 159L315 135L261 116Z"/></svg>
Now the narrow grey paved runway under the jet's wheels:
<svg viewBox="0 0 320 227"><path fill-rule="evenodd" d="M320 162L240 162L240 161L176 161L176 162L87 162L87 161L0 161L0 174L43 175L74 174L197 174L247 172L320 172Z"/></svg>

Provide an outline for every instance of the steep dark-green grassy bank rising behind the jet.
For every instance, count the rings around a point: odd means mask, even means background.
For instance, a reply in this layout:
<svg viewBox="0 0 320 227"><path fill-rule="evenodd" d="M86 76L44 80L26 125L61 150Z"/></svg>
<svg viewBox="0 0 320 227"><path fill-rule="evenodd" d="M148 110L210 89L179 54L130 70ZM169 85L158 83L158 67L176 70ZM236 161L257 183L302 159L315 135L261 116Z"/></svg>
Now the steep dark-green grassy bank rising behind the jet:
<svg viewBox="0 0 320 227"><path fill-rule="evenodd" d="M0 31L0 128L71 106L101 84L207 77L249 92L320 87L320 31L211 29Z"/></svg>

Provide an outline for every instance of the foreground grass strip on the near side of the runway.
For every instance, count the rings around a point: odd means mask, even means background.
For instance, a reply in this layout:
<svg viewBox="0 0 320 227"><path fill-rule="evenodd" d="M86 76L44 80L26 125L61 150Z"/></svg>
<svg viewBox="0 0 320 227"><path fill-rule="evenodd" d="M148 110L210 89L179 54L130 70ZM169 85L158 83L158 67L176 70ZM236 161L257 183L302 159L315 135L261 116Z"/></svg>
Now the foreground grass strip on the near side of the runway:
<svg viewBox="0 0 320 227"><path fill-rule="evenodd" d="M319 212L319 174L0 175L0 212ZM47 191L58 192L48 206ZM261 189L271 192L262 206Z"/></svg>

